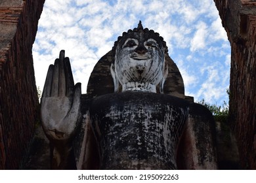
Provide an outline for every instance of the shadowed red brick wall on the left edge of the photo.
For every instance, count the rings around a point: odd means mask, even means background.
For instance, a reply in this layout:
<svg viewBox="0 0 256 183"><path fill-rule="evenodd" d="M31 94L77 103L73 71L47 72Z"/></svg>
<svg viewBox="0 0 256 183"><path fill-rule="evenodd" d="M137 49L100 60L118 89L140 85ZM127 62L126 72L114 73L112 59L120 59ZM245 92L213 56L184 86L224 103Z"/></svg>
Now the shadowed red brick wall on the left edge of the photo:
<svg viewBox="0 0 256 183"><path fill-rule="evenodd" d="M32 44L44 1L0 2L0 169L19 168L38 118Z"/></svg>

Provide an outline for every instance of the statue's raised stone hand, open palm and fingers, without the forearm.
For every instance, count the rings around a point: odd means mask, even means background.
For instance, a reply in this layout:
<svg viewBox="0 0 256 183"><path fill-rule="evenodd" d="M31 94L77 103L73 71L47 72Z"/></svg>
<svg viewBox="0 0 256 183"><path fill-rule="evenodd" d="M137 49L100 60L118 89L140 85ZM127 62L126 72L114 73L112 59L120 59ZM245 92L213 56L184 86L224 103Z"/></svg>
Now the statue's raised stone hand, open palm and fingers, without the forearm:
<svg viewBox="0 0 256 183"><path fill-rule="evenodd" d="M49 66L41 97L41 120L50 141L69 141L80 120L81 83L74 86L69 58L64 50Z"/></svg>

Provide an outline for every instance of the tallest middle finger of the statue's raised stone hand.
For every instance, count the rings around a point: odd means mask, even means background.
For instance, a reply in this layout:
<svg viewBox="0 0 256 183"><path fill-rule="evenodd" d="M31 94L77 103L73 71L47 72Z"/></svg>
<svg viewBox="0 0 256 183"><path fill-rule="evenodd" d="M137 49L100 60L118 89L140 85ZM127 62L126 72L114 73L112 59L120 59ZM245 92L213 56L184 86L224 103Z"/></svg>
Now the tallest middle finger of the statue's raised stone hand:
<svg viewBox="0 0 256 183"><path fill-rule="evenodd" d="M60 51L60 58L58 62L58 97L64 97L66 95L66 78L64 71L64 57L65 51Z"/></svg>

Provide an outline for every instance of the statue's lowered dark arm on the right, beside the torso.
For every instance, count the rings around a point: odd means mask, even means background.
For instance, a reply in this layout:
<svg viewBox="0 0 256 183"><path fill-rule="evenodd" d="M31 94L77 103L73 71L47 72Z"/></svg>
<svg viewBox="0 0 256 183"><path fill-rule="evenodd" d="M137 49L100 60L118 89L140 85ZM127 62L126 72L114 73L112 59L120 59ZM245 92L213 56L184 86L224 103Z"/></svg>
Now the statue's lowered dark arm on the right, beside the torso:
<svg viewBox="0 0 256 183"><path fill-rule="evenodd" d="M218 169L215 121L202 105L190 103L178 150L179 169Z"/></svg>

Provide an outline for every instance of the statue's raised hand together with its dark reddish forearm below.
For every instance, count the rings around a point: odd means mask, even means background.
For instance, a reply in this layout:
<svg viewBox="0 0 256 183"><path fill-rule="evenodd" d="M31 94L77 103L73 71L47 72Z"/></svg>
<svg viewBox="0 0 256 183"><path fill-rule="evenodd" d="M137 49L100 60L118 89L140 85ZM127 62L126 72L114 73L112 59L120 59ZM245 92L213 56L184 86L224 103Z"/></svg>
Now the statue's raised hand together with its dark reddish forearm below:
<svg viewBox="0 0 256 183"><path fill-rule="evenodd" d="M64 50L49 66L41 97L41 121L51 143L53 169L74 169L72 141L81 121L81 84L74 85L70 60Z"/></svg>

